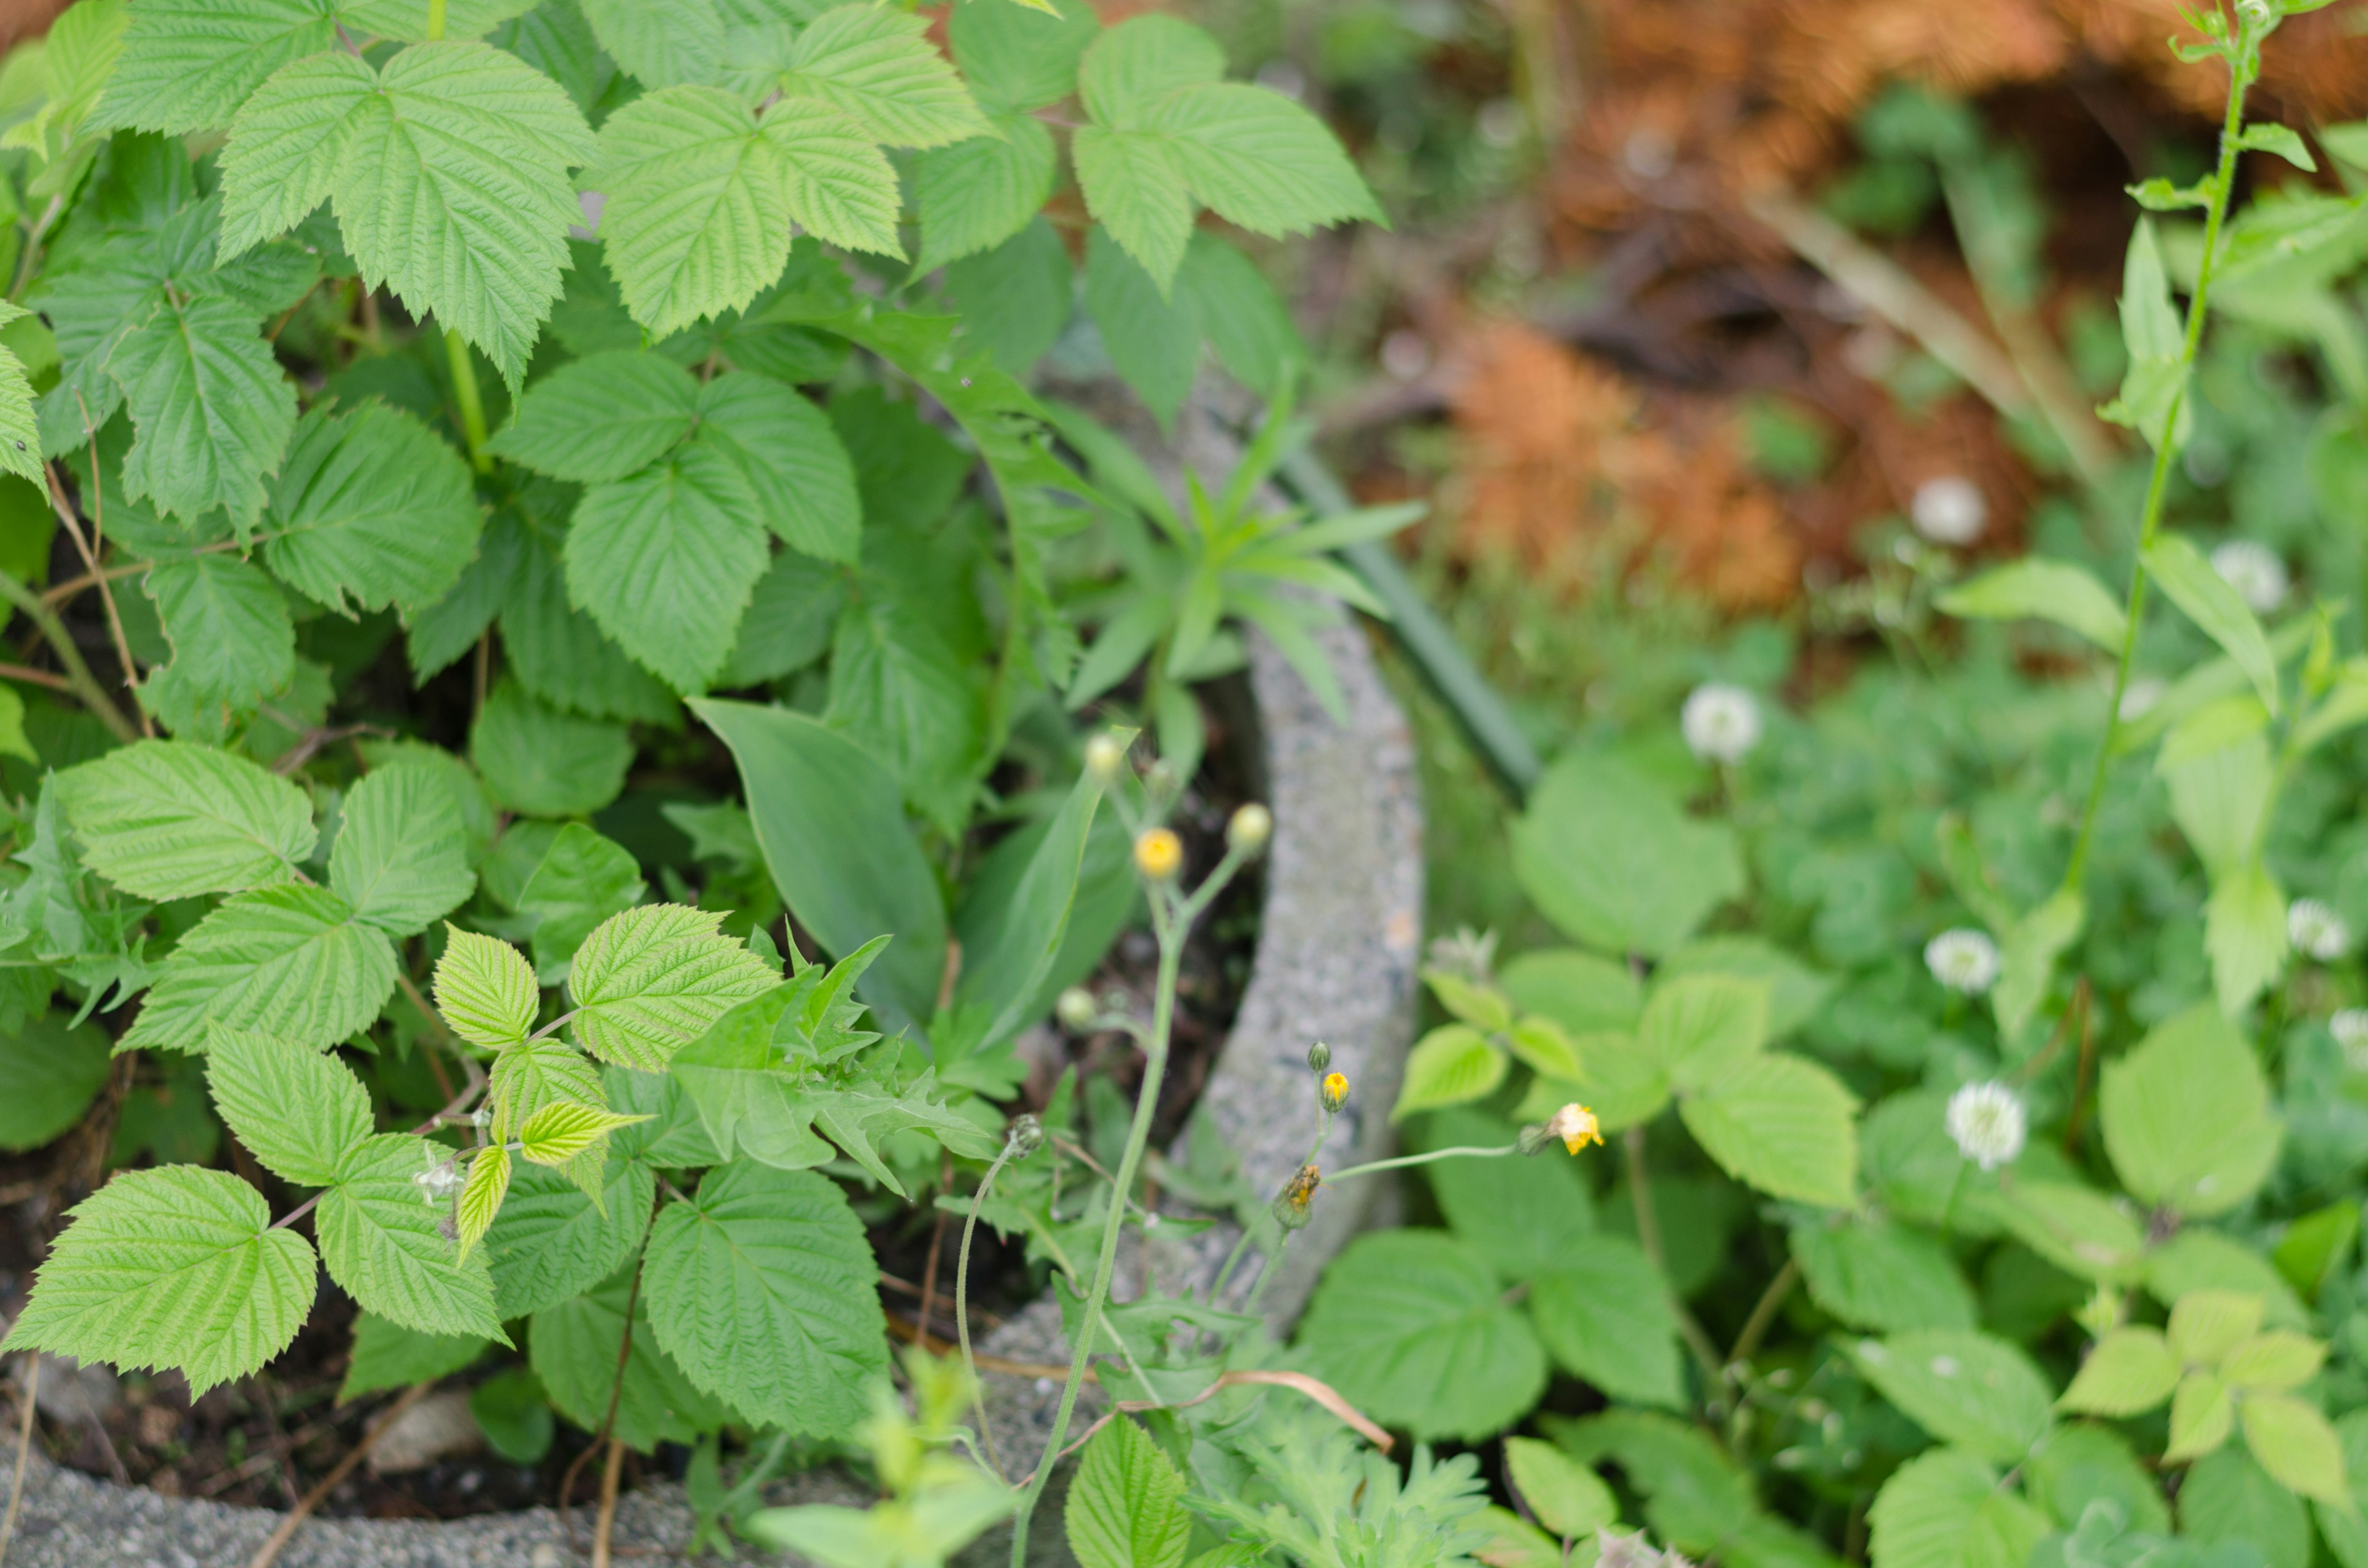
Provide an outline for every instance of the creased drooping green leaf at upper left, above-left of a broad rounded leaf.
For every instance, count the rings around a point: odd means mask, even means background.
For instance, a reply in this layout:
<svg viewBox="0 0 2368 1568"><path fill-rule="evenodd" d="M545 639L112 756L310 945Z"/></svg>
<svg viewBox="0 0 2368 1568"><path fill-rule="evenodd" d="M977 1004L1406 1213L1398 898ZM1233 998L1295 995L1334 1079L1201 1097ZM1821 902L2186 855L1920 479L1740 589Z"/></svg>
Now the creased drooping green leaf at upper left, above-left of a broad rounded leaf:
<svg viewBox="0 0 2368 1568"><path fill-rule="evenodd" d="M133 415L123 493L159 512L215 507L242 528L263 512L265 476L296 429L296 388L244 306L218 294L166 303L107 360Z"/></svg>

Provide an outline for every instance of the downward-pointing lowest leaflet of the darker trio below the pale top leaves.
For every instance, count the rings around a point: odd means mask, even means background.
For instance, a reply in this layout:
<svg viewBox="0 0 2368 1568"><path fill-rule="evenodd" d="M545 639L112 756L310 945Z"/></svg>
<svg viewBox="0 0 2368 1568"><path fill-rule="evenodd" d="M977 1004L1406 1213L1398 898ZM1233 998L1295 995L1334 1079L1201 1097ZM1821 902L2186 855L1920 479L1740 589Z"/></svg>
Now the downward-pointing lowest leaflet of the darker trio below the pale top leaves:
<svg viewBox="0 0 2368 1568"><path fill-rule="evenodd" d="M765 576L760 516L739 462L687 445L585 493L568 528L568 597L646 670L703 692Z"/></svg>

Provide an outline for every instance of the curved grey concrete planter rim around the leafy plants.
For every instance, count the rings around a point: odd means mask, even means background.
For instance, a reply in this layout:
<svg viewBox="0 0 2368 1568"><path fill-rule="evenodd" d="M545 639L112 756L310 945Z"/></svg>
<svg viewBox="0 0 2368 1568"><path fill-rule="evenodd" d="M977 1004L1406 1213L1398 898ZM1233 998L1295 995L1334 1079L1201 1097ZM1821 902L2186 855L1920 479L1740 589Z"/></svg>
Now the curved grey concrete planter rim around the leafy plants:
<svg viewBox="0 0 2368 1568"><path fill-rule="evenodd" d="M1201 445L1193 431L1186 431L1184 445ZM1307 1045L1326 1040L1333 1066L1354 1085L1326 1156L1326 1163L1345 1165L1388 1151L1388 1106L1414 1037L1423 910L1414 741L1364 628L1340 625L1319 632L1319 642L1340 675L1347 725L1324 713L1272 644L1250 640L1274 848L1250 985L1201 1094L1246 1175L1267 1194L1307 1151L1314 1120ZM1262 1298L1269 1324L1283 1329L1298 1317L1317 1272L1366 1222L1381 1191L1381 1182L1362 1182L1319 1194L1314 1222L1298 1234ZM1153 1244L1148 1267L1167 1289L1205 1281L1236 1234L1220 1225L1184 1244ZM1141 1258L1127 1260L1120 1298L1139 1289L1141 1267ZM1037 1300L978 1348L1018 1362L1066 1362L1058 1303L1049 1296ZM990 1374L987 1386L1004 1461L1032 1464L1058 1388L999 1374ZM1080 1419L1073 1433L1082 1428ZM791 1478L777 1492L781 1502L869 1499L831 1471ZM59 1469L36 1452L7 1561L12 1568L244 1568L277 1521L279 1514L268 1509L118 1487ZM578 1509L575 1530L587 1549L590 1528L590 1509ZM642 1487L618 1504L616 1542L620 1554L632 1551L635 1563L687 1561L680 1551L689 1528L691 1516L673 1483ZM1035 1530L1042 1549L1030 1559L1068 1561L1058 1535L1047 1509ZM990 1535L964 1561L1002 1563L1006 1551ZM552 1509L452 1523L313 1518L279 1556L284 1568L571 1568L583 1561L568 1551Z"/></svg>

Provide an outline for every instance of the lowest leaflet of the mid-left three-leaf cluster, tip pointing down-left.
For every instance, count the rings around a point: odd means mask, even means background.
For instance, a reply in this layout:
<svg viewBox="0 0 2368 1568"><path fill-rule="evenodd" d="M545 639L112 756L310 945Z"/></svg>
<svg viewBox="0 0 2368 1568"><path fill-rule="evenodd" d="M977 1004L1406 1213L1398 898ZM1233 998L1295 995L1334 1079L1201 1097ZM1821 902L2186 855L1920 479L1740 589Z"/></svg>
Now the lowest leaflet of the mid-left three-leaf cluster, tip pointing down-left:
<svg viewBox="0 0 2368 1568"><path fill-rule="evenodd" d="M395 950L327 888L239 893L180 938L118 1049L204 1049L206 1026L329 1047L395 990Z"/></svg>

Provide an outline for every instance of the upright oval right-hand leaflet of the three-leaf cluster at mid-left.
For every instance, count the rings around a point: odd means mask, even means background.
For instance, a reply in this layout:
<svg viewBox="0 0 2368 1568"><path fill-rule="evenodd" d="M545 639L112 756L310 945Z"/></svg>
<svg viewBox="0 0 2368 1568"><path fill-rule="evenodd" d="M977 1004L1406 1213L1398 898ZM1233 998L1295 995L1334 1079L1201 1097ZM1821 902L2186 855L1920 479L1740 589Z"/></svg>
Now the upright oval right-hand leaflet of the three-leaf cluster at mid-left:
<svg viewBox="0 0 2368 1568"><path fill-rule="evenodd" d="M346 793L329 888L395 938L419 936L469 898L476 872L452 786L422 765L372 770Z"/></svg>

